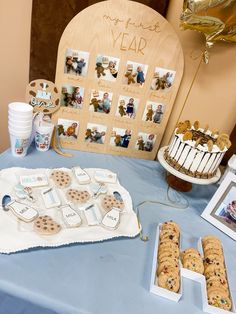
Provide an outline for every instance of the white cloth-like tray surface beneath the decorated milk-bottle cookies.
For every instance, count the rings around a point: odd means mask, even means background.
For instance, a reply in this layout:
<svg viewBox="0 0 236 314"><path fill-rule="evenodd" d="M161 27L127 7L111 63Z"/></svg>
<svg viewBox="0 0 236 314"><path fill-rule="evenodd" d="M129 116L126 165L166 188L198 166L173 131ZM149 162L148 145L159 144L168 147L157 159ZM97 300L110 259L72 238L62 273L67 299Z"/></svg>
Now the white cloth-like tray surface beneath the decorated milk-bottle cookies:
<svg viewBox="0 0 236 314"><path fill-rule="evenodd" d="M39 212L39 215L51 216L58 224L61 230L54 235L41 235L34 231L34 222L24 222L18 219L12 211L0 210L0 252L13 253L26 250L33 247L57 247L70 243L84 243L103 241L117 237L135 237L139 232L136 214L133 211L132 199L127 190L125 190L118 182L106 183L107 195L112 195L114 191L118 191L124 201L124 208L120 213L120 222L116 229L109 230L101 224L88 225L87 220L81 208L90 204L95 204L104 217L106 211L102 206L102 200L105 194L100 194L96 199L90 198L85 204L72 204L66 198L66 190L69 188L77 188L79 190L87 190L90 195L93 193L90 184L80 185L74 175L74 172L68 168L60 168L57 170L66 171L71 177L71 184L68 188L58 189L57 194L60 198L61 205L70 204L71 207L79 213L82 223L78 227L70 228L65 224L59 207L46 209L43 199L42 190L45 188L55 187L53 180L50 178L52 171L55 169L27 169L27 168L9 168L0 172L0 197L10 195L13 199L17 199L15 194L15 186L19 184L20 177L25 175L43 174L48 178L48 186L33 187L33 197L35 202L29 200L20 200L21 202L33 206ZM85 169L91 178L91 182L95 183L94 174L98 170L109 171L106 169Z"/></svg>

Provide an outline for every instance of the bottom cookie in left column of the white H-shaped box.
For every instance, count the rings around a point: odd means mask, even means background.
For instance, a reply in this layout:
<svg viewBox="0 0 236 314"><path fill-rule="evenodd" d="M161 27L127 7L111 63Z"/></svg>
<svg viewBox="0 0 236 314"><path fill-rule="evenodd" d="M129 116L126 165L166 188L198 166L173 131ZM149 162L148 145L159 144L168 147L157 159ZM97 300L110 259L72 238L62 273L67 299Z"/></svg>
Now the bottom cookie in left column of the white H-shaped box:
<svg viewBox="0 0 236 314"><path fill-rule="evenodd" d="M171 272L171 269L169 269L168 272L161 272L158 275L158 285L170 291L178 292L180 277L174 270Z"/></svg>

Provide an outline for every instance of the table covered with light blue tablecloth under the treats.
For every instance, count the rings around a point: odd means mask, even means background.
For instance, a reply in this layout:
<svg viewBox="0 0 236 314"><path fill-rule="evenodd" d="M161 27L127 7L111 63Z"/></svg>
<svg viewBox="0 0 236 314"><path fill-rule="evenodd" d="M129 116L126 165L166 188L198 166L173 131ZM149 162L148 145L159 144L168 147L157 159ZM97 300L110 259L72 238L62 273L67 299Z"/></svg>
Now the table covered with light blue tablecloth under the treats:
<svg viewBox="0 0 236 314"><path fill-rule="evenodd" d="M134 206L145 200L165 200L165 170L156 161L71 151L65 158L53 151L31 149L25 158L9 150L0 155L1 168L81 167L108 168L118 173L130 192ZM180 224L182 247L196 245L198 237L214 234L223 242L229 267L231 292L236 300L235 242L200 217L217 186L193 185L184 194L187 209L161 204L140 210L149 241L120 238L100 243L74 244L59 248L31 249L0 255L0 313L4 314L156 314L202 313L200 287L184 279L179 303L149 292L156 226L173 219ZM14 310L13 310L14 307ZM11 311L12 309L12 311Z"/></svg>

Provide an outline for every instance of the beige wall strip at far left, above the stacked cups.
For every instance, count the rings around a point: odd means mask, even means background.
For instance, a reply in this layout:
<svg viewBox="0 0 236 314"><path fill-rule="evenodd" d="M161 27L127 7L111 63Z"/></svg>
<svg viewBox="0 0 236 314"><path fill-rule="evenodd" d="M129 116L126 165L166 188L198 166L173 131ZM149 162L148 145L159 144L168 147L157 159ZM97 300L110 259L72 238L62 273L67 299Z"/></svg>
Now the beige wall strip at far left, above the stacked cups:
<svg viewBox="0 0 236 314"><path fill-rule="evenodd" d="M0 0L0 152L9 146L7 105L25 99L31 8L32 0Z"/></svg>

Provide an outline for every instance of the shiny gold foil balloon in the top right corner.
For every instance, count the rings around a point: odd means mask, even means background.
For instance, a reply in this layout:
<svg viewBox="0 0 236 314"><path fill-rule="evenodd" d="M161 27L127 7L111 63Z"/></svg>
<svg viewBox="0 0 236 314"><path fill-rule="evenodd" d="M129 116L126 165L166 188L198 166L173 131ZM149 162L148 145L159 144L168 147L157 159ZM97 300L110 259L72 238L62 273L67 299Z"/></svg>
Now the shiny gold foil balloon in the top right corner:
<svg viewBox="0 0 236 314"><path fill-rule="evenodd" d="M236 0L184 0L180 20L182 28L205 35L206 48L221 40L236 42Z"/></svg>

